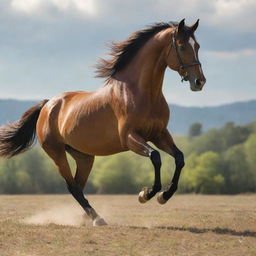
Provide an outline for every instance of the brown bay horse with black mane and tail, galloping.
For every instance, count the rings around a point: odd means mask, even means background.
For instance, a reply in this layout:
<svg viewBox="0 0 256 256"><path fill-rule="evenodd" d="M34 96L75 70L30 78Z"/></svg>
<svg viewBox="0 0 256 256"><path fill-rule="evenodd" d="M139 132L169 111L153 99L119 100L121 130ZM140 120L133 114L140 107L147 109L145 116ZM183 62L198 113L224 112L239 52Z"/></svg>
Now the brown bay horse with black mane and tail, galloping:
<svg viewBox="0 0 256 256"><path fill-rule="evenodd" d="M194 32L198 21L186 26L158 23L133 33L126 41L113 43L110 60L101 59L98 77L105 86L94 92L67 92L30 108L16 123L0 128L0 156L12 157L32 145L35 133L53 159L68 190L89 215L94 225L105 221L85 199L83 188L94 156L131 150L149 157L155 171L152 188L139 193L145 203L161 190L161 158L147 142L175 158L176 168L168 190L158 202L164 204L177 190L182 152L167 130L169 108L162 93L165 69L178 71L191 90L200 91L205 77L198 60L199 44ZM68 152L76 161L73 177Z"/></svg>

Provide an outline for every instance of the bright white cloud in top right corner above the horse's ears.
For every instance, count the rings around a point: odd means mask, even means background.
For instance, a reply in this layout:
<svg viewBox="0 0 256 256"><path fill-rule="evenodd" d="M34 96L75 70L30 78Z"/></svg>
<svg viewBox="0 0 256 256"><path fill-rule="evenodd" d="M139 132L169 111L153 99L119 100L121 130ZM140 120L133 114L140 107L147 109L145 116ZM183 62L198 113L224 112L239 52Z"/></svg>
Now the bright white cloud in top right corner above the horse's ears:
<svg viewBox="0 0 256 256"><path fill-rule="evenodd" d="M154 8L162 14L175 14L177 17L198 17L208 27L220 30L251 31L256 23L255 0L158 0Z"/></svg>

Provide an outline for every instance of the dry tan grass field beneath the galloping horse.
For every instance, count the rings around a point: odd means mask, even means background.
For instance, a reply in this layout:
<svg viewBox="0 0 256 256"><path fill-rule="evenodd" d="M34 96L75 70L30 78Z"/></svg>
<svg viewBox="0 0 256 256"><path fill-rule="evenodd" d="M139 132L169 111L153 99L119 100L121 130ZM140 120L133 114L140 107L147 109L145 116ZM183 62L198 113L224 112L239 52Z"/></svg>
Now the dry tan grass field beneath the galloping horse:
<svg viewBox="0 0 256 256"><path fill-rule="evenodd" d="M0 255L256 255L256 195L88 199L108 226L69 195L0 196Z"/></svg>

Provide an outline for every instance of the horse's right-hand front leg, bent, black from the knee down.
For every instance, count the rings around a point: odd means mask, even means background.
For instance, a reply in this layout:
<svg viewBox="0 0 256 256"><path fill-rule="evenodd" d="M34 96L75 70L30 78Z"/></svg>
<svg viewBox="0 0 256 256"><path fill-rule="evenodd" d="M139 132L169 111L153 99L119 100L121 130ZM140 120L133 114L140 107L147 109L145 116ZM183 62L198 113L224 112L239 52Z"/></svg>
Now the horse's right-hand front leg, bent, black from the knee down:
<svg viewBox="0 0 256 256"><path fill-rule="evenodd" d="M183 153L177 148L175 145L173 138L171 134L168 132L168 130L165 130L161 136L159 136L157 139L152 141L159 149L165 151L166 153L170 154L171 156L174 157L175 159L175 172L171 181L171 184L169 188L161 192L157 200L160 204L166 203L176 192L178 189L178 183L179 183L179 178L180 178L180 173L182 168L184 167L184 156Z"/></svg>

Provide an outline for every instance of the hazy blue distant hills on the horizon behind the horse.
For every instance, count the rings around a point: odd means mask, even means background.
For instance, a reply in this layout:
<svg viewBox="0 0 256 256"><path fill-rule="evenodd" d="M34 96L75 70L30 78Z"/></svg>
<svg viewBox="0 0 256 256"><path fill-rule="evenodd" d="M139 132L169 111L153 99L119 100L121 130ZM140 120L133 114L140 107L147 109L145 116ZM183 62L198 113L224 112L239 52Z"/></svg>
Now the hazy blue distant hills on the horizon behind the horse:
<svg viewBox="0 0 256 256"><path fill-rule="evenodd" d="M37 101L0 100L0 124L15 121ZM184 107L169 105L169 129L172 134L186 134L189 126L200 122L203 130L218 128L226 122L245 125L256 120L256 100L236 102L216 107Z"/></svg>

